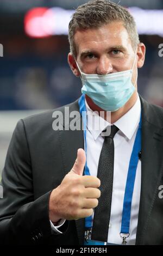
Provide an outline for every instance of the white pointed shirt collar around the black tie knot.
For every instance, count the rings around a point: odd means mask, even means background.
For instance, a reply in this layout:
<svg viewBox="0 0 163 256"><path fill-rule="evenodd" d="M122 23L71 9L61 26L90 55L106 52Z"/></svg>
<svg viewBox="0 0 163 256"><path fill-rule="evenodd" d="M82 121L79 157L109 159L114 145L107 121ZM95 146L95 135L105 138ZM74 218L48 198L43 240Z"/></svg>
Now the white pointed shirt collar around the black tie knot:
<svg viewBox="0 0 163 256"><path fill-rule="evenodd" d="M87 111L87 129L91 132L93 138L98 138L101 132L106 129L107 126L111 125L108 121L104 120L98 115L98 113L93 112L85 100L86 111ZM131 109L118 119L114 125L120 129L124 136L131 139L139 125L141 115L141 102L140 97L137 94L136 103ZM99 125L100 124L100 125Z"/></svg>

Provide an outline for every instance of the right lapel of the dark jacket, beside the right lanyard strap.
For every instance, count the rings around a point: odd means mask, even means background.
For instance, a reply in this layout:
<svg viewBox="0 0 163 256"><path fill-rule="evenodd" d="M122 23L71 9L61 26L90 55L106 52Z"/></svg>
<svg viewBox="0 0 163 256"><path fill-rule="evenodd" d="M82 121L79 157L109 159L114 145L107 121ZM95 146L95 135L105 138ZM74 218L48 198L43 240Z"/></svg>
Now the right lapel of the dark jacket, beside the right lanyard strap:
<svg viewBox="0 0 163 256"><path fill-rule="evenodd" d="M142 105L142 154L141 196L136 244L143 244L146 228L158 193L163 168L163 130L152 105L141 99ZM163 126L163 125L162 125Z"/></svg>

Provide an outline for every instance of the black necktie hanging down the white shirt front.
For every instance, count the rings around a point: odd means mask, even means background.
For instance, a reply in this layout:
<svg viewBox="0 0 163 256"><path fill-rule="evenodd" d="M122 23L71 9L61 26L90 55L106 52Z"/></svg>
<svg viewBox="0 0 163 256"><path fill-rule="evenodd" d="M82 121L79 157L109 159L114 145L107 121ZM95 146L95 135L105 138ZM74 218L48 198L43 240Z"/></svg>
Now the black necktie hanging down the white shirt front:
<svg viewBox="0 0 163 256"><path fill-rule="evenodd" d="M101 197L95 208L93 218L92 240L106 242L108 240L108 228L111 211L112 182L114 173L114 136L118 128L111 126L111 133L105 136L101 155L98 162L97 177L101 180Z"/></svg>

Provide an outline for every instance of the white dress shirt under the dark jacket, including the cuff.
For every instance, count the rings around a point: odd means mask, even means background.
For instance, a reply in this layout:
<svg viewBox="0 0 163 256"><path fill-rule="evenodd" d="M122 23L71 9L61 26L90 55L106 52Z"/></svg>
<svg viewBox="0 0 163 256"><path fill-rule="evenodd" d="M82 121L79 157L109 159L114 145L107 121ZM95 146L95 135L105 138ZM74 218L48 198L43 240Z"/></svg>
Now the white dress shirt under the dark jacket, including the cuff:
<svg viewBox="0 0 163 256"><path fill-rule="evenodd" d="M97 176L99 156L101 154L104 138L101 136L101 132L111 125L104 119L100 122L99 129L93 129L99 124L98 114L93 113L90 107L85 101L87 109L87 130L86 130L86 145L87 145L87 166L90 170L90 175ZM136 132L139 127L141 115L141 103L139 95L137 94L137 101L135 105L117 120L116 125L119 131L114 137L115 157L114 157L114 179L112 187L112 201L111 201L111 214L108 232L109 243L122 243L120 237L122 210L124 191L126 187L126 180L128 174L128 167L130 156L133 150ZM131 218L130 218L130 235L127 238L127 245L135 245L137 221L139 215L139 203L140 203L140 189L141 189L141 161L139 160L136 170L135 185L133 191L133 200L131 203ZM64 220L61 221L59 227L64 224ZM55 233L61 233L58 228L54 227L51 222L51 227Z"/></svg>

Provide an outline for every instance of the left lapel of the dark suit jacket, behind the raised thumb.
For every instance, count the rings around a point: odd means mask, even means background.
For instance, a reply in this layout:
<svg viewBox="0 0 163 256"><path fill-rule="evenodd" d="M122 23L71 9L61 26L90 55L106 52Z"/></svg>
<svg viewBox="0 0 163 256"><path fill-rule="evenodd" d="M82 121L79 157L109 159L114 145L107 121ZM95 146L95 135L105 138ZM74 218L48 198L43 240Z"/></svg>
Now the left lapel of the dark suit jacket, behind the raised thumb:
<svg viewBox="0 0 163 256"><path fill-rule="evenodd" d="M69 106L69 111L70 113L72 113L72 111L79 112L78 100ZM84 149L83 130L81 128L80 130L72 131L70 129L72 119L73 118L70 118L69 121L67 119L68 122L64 120L64 130L59 132L61 154L62 154L62 161L65 169L65 175L68 172L70 172L71 168L73 167L73 164L77 157L77 150L79 148ZM82 127L82 118L80 115L79 115L79 118L77 118L77 120L80 123L80 127ZM83 245L84 243L84 225L85 225L84 218L76 221L76 227L77 227L77 233L78 233L78 239L79 239L80 245Z"/></svg>

